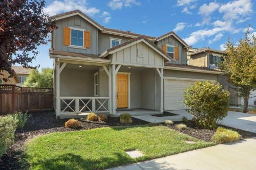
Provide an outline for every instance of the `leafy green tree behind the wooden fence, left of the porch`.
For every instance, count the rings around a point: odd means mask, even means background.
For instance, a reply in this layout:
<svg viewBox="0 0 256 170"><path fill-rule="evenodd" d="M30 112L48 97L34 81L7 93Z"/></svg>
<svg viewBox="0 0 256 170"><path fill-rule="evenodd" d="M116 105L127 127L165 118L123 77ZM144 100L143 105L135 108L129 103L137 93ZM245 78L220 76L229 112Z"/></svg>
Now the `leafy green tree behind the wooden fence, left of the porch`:
<svg viewBox="0 0 256 170"><path fill-rule="evenodd" d="M53 87L53 69L52 68L42 68L41 73L34 69L30 72L26 82L25 87Z"/></svg>

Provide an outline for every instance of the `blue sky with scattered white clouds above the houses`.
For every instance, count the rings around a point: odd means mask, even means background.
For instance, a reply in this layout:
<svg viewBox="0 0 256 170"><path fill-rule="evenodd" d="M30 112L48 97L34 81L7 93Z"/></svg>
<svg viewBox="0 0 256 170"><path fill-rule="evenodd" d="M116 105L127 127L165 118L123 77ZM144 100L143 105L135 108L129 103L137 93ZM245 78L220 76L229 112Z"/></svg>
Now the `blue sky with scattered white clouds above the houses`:
<svg viewBox="0 0 256 170"><path fill-rule="evenodd" d="M248 25L256 35L255 1L199 0L57 0L46 1L45 11L55 15L75 9L107 28L160 36L175 31L193 47L223 50L230 37L238 42ZM32 65L53 67L50 44L38 47Z"/></svg>

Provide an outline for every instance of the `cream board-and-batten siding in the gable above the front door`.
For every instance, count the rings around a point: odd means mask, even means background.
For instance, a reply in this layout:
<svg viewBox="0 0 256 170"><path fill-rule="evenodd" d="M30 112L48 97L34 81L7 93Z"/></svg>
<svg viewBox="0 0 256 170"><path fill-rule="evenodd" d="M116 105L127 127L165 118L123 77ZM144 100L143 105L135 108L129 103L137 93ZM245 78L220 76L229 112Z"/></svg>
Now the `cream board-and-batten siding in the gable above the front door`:
<svg viewBox="0 0 256 170"><path fill-rule="evenodd" d="M123 63L145 67L163 67L164 58L144 42L139 42L113 53L112 63Z"/></svg>

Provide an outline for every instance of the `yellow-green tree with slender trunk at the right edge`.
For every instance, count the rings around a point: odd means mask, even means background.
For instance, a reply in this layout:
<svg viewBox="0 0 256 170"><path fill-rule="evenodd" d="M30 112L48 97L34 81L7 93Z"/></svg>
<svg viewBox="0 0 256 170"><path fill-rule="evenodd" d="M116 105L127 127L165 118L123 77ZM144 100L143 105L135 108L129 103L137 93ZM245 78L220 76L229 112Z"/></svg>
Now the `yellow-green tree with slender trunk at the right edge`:
<svg viewBox="0 0 256 170"><path fill-rule="evenodd" d="M227 54L222 62L222 70L229 81L238 87L239 97L244 98L244 112L248 110L250 92L256 89L256 37L249 34L239 40L236 46L228 39Z"/></svg>

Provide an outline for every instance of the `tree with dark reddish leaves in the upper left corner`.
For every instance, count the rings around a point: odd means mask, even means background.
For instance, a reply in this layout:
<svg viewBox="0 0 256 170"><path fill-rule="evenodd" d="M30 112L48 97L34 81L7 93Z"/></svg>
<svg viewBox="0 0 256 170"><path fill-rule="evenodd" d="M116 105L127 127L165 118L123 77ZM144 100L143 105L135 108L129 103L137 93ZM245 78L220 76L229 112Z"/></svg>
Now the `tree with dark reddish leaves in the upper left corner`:
<svg viewBox="0 0 256 170"><path fill-rule="evenodd" d="M42 0L0 1L0 74L7 70L12 77L13 64L35 68L29 63L38 55L37 46L47 44L49 33L56 29L44 7Z"/></svg>

